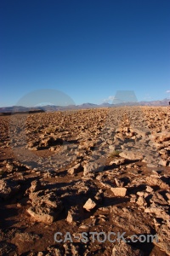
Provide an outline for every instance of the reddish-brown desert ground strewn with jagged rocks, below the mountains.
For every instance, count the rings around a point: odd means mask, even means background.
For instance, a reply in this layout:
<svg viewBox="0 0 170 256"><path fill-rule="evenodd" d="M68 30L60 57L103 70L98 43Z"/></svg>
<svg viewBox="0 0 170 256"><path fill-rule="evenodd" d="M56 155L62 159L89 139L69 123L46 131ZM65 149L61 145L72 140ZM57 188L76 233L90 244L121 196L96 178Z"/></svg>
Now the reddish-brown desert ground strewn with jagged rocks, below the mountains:
<svg viewBox="0 0 170 256"><path fill-rule="evenodd" d="M169 117L137 106L0 117L0 254L170 255Z"/></svg>

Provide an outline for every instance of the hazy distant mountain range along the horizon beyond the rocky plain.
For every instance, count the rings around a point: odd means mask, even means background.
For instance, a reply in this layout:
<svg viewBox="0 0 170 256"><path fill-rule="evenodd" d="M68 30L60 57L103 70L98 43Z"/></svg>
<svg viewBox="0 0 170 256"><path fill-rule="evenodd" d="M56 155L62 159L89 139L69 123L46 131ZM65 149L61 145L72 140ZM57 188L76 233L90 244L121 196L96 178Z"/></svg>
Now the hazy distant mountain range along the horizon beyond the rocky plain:
<svg viewBox="0 0 170 256"><path fill-rule="evenodd" d="M116 104L110 104L108 102L104 102L100 105L94 103L83 103L82 105L70 105L70 106L54 106L47 105L37 108L26 108L22 106L13 106L13 107L4 107L0 108L0 113L36 113L36 112L52 112L58 110L69 110L69 109L85 109L85 108L114 108L121 106L168 106L170 99L163 99L160 101L152 101L152 102L122 102Z"/></svg>

